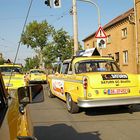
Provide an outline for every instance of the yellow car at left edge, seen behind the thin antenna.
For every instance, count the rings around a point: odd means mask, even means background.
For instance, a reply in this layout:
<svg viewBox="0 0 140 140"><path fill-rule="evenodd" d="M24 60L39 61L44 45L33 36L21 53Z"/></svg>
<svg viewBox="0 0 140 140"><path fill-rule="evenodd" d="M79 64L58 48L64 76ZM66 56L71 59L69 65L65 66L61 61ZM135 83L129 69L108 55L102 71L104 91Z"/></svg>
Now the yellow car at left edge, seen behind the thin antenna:
<svg viewBox="0 0 140 140"><path fill-rule="evenodd" d="M24 74L22 66L19 64L4 64L0 65L4 84L7 89L15 90L18 87L25 86Z"/></svg>

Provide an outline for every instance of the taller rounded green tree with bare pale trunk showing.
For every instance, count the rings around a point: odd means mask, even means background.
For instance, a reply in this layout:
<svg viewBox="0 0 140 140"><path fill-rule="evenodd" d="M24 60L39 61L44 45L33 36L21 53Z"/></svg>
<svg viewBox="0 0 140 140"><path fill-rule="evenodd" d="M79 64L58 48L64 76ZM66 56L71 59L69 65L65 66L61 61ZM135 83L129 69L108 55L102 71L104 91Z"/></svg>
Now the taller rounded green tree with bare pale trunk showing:
<svg viewBox="0 0 140 140"><path fill-rule="evenodd" d="M21 42L38 53L40 65L42 65L42 50L48 43L52 32L53 27L45 20L41 23L38 23L37 21L29 23L26 26L25 32L22 34Z"/></svg>

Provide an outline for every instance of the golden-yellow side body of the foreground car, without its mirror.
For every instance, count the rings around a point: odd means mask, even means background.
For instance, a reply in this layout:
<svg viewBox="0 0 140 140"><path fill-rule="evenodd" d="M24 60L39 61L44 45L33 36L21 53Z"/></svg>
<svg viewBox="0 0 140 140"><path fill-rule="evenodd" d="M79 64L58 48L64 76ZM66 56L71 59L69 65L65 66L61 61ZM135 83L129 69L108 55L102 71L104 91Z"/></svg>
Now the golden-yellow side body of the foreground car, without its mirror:
<svg viewBox="0 0 140 140"><path fill-rule="evenodd" d="M19 112L17 93L11 99L6 95L0 73L0 140L15 140L17 136L31 135L26 110L24 114Z"/></svg>

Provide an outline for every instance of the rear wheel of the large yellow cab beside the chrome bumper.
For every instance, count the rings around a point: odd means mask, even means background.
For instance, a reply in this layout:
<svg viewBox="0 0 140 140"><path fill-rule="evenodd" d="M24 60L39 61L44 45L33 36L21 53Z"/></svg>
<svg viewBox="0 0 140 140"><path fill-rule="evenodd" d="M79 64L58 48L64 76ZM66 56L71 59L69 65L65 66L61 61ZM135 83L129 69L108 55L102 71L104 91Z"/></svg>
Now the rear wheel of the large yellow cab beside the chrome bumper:
<svg viewBox="0 0 140 140"><path fill-rule="evenodd" d="M66 95L66 105L67 105L67 110L74 114L79 112L79 107L77 106L77 104L72 100L70 94Z"/></svg>

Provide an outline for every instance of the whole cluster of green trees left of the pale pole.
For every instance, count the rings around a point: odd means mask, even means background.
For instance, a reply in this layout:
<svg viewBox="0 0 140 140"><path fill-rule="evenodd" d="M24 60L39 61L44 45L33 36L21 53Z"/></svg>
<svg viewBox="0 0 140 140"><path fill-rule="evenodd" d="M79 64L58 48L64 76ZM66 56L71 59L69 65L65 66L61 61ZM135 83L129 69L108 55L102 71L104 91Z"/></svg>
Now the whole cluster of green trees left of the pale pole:
<svg viewBox="0 0 140 140"><path fill-rule="evenodd" d="M47 21L29 23L22 34L21 42L37 53L36 58L25 60L25 69L42 65L42 61L44 61L45 66L50 68L58 58L63 61L73 55L73 39L63 29L55 31ZM80 44L79 46L81 49Z"/></svg>

